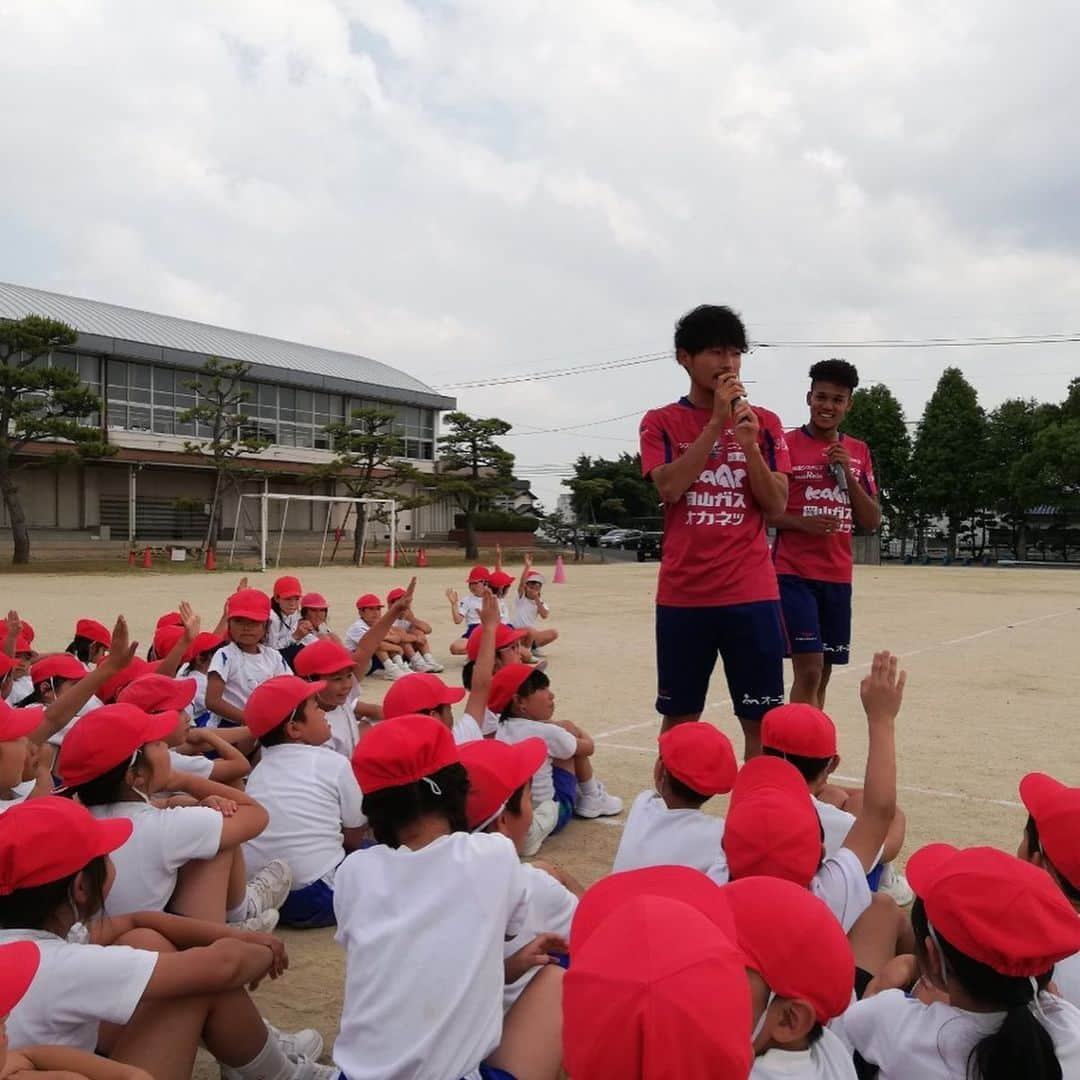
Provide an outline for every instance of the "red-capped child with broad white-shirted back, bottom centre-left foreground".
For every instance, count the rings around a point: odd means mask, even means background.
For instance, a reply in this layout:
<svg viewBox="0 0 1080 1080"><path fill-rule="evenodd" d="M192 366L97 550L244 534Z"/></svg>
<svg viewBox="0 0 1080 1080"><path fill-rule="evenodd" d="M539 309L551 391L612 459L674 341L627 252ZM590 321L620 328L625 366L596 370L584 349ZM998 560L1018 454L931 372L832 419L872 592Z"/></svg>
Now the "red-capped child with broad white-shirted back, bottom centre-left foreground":
<svg viewBox="0 0 1080 1080"><path fill-rule="evenodd" d="M527 915L527 876L504 836L465 831L469 778L449 730L431 716L384 720L353 769L377 843L347 856L335 880L342 1075L555 1080L563 972L549 954L566 942L541 934L504 960ZM545 970L503 1022L503 985L531 967Z"/></svg>

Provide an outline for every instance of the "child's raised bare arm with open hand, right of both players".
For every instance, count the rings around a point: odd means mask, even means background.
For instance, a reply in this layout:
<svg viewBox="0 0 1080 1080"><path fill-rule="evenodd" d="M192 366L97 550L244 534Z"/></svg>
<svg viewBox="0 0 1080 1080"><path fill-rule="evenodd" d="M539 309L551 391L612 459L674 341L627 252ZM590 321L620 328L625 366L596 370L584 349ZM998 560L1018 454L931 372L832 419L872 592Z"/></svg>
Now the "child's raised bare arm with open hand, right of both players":
<svg viewBox="0 0 1080 1080"><path fill-rule="evenodd" d="M892 653L875 652L870 673L859 688L869 728L869 748L863 806L843 847L859 856L867 873L877 862L896 813L895 720L907 679L907 673L897 671L899 666L899 660Z"/></svg>

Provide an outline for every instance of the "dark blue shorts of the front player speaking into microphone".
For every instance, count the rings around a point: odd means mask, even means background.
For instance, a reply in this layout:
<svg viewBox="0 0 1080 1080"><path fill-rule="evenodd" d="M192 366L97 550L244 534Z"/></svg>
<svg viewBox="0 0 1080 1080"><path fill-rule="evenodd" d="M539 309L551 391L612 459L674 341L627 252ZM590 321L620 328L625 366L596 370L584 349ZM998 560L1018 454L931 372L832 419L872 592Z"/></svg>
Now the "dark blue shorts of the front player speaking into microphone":
<svg viewBox="0 0 1080 1080"><path fill-rule="evenodd" d="M784 703L786 648L777 600L703 608L658 604L657 712L700 713L719 654L735 716L759 720Z"/></svg>

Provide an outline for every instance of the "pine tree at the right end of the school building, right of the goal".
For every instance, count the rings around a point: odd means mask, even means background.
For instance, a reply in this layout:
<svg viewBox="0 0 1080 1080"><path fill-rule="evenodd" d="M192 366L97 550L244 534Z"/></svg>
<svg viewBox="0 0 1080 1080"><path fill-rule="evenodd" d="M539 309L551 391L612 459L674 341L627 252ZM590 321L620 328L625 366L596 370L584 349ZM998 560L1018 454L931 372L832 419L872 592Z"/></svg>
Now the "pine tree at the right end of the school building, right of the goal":
<svg viewBox="0 0 1080 1080"><path fill-rule="evenodd" d="M476 514L492 499L514 489L514 456L495 442L511 430L511 424L496 417L476 419L467 413L447 413L443 419L450 430L438 436L437 471L429 484L461 509L465 557L476 558Z"/></svg>

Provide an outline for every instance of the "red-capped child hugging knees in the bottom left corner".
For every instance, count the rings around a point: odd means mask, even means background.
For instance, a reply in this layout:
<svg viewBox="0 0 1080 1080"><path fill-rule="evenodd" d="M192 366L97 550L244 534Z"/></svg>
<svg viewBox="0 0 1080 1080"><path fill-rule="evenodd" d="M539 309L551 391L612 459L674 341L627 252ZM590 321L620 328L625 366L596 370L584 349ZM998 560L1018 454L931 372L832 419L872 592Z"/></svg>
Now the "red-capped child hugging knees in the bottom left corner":
<svg viewBox="0 0 1080 1080"><path fill-rule="evenodd" d="M69 799L0 814L0 944L35 942L40 963L8 1017L15 1047L55 1044L190 1080L202 1042L222 1080L336 1080L315 1031L266 1024L245 987L288 964L269 934L161 912L106 917L110 855L126 819L95 821Z"/></svg>

